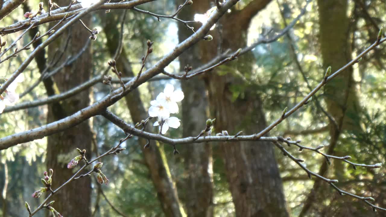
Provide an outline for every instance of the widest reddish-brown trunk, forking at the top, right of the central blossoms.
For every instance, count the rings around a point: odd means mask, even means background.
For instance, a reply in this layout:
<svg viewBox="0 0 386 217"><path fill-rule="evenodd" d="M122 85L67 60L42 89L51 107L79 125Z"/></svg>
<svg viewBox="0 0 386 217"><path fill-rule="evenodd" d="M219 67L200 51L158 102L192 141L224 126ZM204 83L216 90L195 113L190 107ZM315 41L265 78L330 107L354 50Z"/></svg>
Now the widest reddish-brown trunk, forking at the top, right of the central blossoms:
<svg viewBox="0 0 386 217"><path fill-rule="evenodd" d="M249 4L251 8L244 8L242 11L251 10L247 14L252 16L267 3L269 1L255 0ZM207 1L195 2L193 5L198 5L200 13L210 8ZM251 17L246 17L242 11L233 10L231 14L225 15L221 21L222 34L212 31L209 34L212 34L213 41L200 43L200 56L204 62L217 55L218 46L223 51L235 51L246 46ZM253 63L254 58L249 53L227 66L249 79ZM237 73L223 75L219 72L221 69L205 77L213 115L211 117L216 118L216 131L227 130L229 134L235 134L242 130L245 134L253 134L264 129L266 121L259 95ZM232 91L234 87L240 87L237 94ZM220 147L236 216L288 216L273 146L268 142L223 142Z"/></svg>

